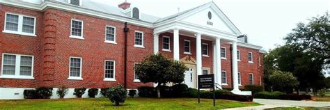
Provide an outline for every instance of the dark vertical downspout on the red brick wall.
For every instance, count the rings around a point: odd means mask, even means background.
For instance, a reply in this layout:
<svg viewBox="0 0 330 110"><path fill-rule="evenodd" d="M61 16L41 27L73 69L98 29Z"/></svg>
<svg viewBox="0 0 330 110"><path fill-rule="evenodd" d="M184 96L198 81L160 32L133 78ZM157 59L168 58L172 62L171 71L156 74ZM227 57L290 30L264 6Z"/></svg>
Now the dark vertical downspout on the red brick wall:
<svg viewBox="0 0 330 110"><path fill-rule="evenodd" d="M125 22L124 27L124 88L127 88L127 33L129 28L127 27L127 22Z"/></svg>

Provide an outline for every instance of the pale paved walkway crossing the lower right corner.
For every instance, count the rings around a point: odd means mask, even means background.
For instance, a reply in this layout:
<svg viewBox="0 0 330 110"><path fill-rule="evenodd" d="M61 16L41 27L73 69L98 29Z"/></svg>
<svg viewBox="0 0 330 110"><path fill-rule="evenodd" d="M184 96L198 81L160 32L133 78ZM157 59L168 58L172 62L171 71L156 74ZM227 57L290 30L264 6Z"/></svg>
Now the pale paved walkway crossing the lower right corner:
<svg viewBox="0 0 330 110"><path fill-rule="evenodd" d="M322 107L330 109L330 102L315 102L315 101L294 101L294 100L266 100L253 99L253 102L264 104L256 107L241 107L233 109L270 109L277 107Z"/></svg>

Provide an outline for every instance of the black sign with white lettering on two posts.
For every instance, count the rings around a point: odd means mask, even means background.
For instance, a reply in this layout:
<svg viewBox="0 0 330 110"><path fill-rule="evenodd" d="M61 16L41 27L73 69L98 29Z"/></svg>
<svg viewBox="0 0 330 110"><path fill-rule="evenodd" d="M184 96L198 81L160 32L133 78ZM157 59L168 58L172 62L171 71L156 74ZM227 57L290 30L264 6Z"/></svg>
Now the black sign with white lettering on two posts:
<svg viewBox="0 0 330 110"><path fill-rule="evenodd" d="M198 104L201 102L201 88L211 88L213 90L213 106L215 106L214 74L198 75Z"/></svg>

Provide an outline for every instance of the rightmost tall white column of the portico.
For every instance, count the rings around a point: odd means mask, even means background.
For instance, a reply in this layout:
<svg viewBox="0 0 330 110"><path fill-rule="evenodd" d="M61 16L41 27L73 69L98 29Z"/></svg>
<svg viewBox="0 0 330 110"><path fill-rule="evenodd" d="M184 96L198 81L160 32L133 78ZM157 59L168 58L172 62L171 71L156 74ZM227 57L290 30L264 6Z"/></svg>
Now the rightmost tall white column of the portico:
<svg viewBox="0 0 330 110"><path fill-rule="evenodd" d="M238 66L237 66L237 42L233 41L232 45L233 51L232 51L232 60L233 60L233 93L239 92L238 88Z"/></svg>

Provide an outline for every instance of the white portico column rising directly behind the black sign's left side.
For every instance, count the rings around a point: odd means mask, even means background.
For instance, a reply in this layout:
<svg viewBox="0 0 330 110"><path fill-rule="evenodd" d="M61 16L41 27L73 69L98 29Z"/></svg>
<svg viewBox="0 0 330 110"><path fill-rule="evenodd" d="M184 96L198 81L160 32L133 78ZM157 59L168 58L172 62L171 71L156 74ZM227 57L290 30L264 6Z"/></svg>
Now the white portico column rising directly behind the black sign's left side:
<svg viewBox="0 0 330 110"><path fill-rule="evenodd" d="M202 74L202 40L201 34L196 33L196 72Z"/></svg>

